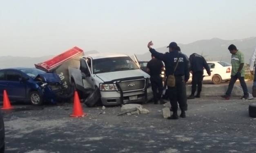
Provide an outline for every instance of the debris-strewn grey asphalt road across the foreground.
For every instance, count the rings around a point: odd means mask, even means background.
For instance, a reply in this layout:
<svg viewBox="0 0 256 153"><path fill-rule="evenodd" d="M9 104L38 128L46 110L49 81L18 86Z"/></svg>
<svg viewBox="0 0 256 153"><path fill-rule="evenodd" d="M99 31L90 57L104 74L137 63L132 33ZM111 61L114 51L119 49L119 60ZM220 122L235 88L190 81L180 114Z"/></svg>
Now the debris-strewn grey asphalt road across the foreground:
<svg viewBox="0 0 256 153"><path fill-rule="evenodd" d="M213 100L214 99L214 100ZM149 114L117 116L120 107L83 107L70 118L71 104L14 105L4 111L6 153L253 153L255 100L202 98L188 101L187 118L167 120L163 105L146 104Z"/></svg>

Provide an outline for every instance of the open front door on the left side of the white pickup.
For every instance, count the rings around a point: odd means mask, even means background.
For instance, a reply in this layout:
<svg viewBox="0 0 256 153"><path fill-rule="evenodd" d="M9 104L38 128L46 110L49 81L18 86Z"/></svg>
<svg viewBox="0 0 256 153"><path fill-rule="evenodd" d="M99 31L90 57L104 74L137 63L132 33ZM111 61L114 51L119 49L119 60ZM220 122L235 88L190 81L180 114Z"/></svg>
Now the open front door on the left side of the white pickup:
<svg viewBox="0 0 256 153"><path fill-rule="evenodd" d="M87 65L87 62L85 59L80 59L80 70L82 74L82 83L84 88L93 88L93 85L91 84L91 72L89 70L89 67Z"/></svg>

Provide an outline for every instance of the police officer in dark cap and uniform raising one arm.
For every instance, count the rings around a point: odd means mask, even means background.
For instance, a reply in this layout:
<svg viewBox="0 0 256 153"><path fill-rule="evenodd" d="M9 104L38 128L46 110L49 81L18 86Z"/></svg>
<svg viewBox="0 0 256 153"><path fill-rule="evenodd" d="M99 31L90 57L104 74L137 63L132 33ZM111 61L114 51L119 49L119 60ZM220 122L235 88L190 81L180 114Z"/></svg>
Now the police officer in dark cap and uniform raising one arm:
<svg viewBox="0 0 256 153"><path fill-rule="evenodd" d="M151 48L153 45L152 41L148 43L147 47L151 54L156 57L156 59L162 60L165 63L165 69L167 76L174 75L175 76L175 87L168 86L169 98L171 107L173 109L173 114L168 119L178 119L178 103L180 106L181 114L180 117L185 118L185 110L187 104L187 96L186 95L186 85L185 83L189 80L189 68L186 57L178 52L178 45L176 42L171 42L167 48L169 48L169 52L163 54L157 52L154 48ZM178 62L178 63L177 63ZM174 71L177 65L176 70ZM184 78L184 79L183 79ZM178 103L177 103L178 101Z"/></svg>

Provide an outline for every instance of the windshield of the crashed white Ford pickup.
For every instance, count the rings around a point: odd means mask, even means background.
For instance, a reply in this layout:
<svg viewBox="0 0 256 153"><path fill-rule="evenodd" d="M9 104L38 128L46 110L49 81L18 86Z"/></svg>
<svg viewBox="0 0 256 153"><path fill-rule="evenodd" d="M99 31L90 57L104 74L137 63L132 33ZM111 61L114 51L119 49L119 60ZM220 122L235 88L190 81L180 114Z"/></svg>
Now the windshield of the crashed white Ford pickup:
<svg viewBox="0 0 256 153"><path fill-rule="evenodd" d="M130 57L111 57L93 60L93 73L139 69Z"/></svg>

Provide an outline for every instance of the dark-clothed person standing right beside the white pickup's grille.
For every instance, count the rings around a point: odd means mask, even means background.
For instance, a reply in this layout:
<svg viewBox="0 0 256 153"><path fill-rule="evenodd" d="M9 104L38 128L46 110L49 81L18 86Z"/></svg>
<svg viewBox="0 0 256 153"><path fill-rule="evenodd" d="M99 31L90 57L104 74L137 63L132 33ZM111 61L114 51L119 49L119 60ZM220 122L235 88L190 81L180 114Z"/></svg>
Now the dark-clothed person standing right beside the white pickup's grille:
<svg viewBox="0 0 256 153"><path fill-rule="evenodd" d="M163 83L160 74L164 65L162 61L156 59L153 55L151 55L151 57L152 59L147 63L147 72L150 74L154 104L158 104L158 100L160 100L160 104L163 104Z"/></svg>

